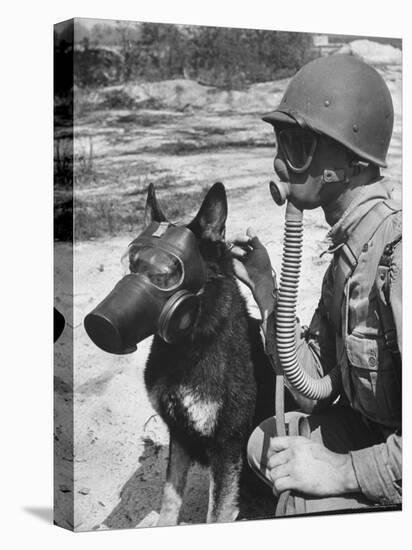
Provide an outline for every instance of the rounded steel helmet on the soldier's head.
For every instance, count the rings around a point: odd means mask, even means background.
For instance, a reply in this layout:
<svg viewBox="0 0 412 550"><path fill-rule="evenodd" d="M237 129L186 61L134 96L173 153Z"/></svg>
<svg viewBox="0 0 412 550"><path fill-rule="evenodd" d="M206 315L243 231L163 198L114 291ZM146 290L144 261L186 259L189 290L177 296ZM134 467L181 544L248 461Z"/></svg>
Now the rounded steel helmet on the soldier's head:
<svg viewBox="0 0 412 550"><path fill-rule="evenodd" d="M351 55L321 57L302 67L278 108L263 120L309 127L359 158L386 167L393 129L391 94L375 69Z"/></svg>

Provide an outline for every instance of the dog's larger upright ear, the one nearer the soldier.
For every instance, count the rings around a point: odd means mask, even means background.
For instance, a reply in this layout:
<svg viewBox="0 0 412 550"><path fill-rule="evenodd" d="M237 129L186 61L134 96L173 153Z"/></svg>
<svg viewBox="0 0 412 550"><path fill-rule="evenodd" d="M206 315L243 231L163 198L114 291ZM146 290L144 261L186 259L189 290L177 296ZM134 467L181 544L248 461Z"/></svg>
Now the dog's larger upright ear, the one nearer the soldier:
<svg viewBox="0 0 412 550"><path fill-rule="evenodd" d="M225 238L227 198L223 183L215 183L203 199L202 206L188 228L198 237L212 241Z"/></svg>

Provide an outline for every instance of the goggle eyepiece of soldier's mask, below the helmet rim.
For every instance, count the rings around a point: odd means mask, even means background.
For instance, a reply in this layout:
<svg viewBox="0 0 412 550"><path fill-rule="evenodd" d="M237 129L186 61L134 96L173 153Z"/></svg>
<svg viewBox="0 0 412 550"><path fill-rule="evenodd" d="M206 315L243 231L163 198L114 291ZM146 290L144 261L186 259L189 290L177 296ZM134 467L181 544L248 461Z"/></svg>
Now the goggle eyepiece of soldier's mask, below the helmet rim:
<svg viewBox="0 0 412 550"><path fill-rule="evenodd" d="M303 128L286 128L277 134L277 139L289 169L297 174L305 172L313 160L316 135Z"/></svg>

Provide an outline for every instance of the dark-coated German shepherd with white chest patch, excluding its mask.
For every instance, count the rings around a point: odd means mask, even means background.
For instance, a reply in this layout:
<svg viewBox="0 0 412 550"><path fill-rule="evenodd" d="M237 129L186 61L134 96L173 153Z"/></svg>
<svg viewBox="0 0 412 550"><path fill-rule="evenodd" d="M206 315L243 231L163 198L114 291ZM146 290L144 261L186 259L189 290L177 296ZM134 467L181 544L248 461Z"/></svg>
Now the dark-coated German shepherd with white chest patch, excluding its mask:
<svg viewBox="0 0 412 550"><path fill-rule="evenodd" d="M149 398L170 432L158 525L178 523L192 461L210 471L207 522L234 521L254 420L257 423L273 413L271 408L257 418L257 364L266 364L271 380L273 376L257 323L249 317L235 281L232 257L224 241L226 217L226 191L216 183L186 226L198 239L207 268L193 330L173 345L154 336L146 364ZM151 221L166 221L153 186L149 187L145 211L146 224ZM272 389L266 400L273 404Z"/></svg>

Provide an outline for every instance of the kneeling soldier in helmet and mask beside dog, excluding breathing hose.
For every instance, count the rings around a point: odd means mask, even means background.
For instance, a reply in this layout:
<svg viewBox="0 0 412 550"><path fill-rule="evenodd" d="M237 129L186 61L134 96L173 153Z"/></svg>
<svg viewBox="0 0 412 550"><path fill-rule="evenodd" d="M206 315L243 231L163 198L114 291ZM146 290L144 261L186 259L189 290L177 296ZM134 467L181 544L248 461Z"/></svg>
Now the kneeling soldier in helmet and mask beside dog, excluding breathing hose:
<svg viewBox="0 0 412 550"><path fill-rule="evenodd" d="M250 437L249 464L276 495L304 497L304 513L399 506L401 212L380 174L393 129L390 92L354 57L320 58L263 120L277 138L278 202L321 207L331 226L331 264L309 328L297 326L296 353L314 379L337 366L341 387L338 399L317 400L291 388L310 437L278 437L269 418ZM266 249L251 229L235 244L236 274L267 318L276 282ZM287 423L300 414L287 413ZM293 498L284 513L299 513Z"/></svg>

